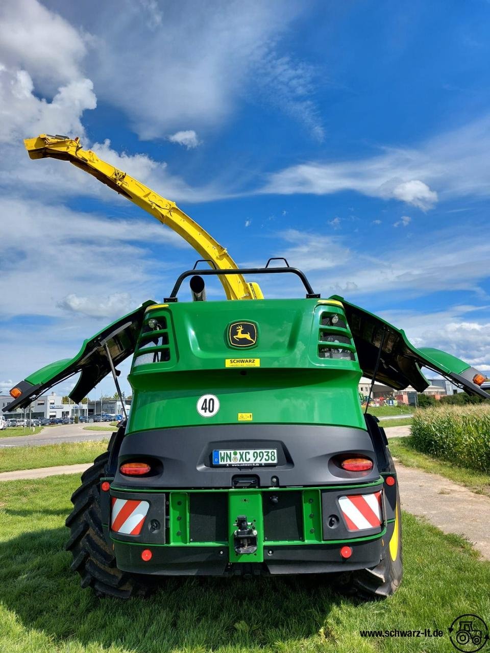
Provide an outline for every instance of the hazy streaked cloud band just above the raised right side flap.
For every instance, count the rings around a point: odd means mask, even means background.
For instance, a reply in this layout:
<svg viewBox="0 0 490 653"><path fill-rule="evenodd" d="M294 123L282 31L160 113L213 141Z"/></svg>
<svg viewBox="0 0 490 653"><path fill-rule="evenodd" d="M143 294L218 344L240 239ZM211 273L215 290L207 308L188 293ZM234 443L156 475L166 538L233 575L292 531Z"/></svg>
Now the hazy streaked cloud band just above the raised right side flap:
<svg viewBox="0 0 490 653"><path fill-rule="evenodd" d="M290 229L277 238L276 251L291 266L308 272L312 286L322 296L350 283L351 289L356 287L350 291L352 301L382 295L393 302L400 293L407 299L448 289L485 297L480 282L488 276L490 240L464 227L434 232L416 248L402 240L397 246L380 243L376 251L362 246L353 249L351 234L324 236Z"/></svg>

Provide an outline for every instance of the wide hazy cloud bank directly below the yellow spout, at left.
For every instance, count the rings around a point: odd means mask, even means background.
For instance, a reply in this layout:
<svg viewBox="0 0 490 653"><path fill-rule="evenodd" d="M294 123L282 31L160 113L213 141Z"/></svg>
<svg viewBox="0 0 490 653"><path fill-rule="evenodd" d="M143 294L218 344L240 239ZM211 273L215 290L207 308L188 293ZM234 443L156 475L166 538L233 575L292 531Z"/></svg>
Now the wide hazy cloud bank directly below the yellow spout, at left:
<svg viewBox="0 0 490 653"><path fill-rule="evenodd" d="M125 293L124 308L151 298L173 281L172 267L191 259L190 246L151 219L110 219L47 202L0 198L0 214L15 216L2 225L0 296L5 317L24 313L59 317L76 308L74 298L98 306L110 295ZM148 244L165 247L165 263ZM177 263L178 261L178 263ZM23 289L23 301L12 289ZM83 302L80 302L83 307ZM86 304L87 306L87 304ZM95 312L101 313L99 308ZM124 310L120 313L122 314Z"/></svg>

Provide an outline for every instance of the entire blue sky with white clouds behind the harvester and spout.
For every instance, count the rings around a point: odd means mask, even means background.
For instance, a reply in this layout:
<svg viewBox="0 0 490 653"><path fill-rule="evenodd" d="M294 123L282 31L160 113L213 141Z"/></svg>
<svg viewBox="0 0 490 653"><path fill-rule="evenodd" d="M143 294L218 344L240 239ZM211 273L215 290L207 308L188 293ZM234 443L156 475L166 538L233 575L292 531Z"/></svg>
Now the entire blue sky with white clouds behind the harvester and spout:
<svg viewBox="0 0 490 653"><path fill-rule="evenodd" d="M489 27L484 0L2 3L0 391L197 258L67 163L30 161L38 133L80 136L237 263L286 256L490 370Z"/></svg>

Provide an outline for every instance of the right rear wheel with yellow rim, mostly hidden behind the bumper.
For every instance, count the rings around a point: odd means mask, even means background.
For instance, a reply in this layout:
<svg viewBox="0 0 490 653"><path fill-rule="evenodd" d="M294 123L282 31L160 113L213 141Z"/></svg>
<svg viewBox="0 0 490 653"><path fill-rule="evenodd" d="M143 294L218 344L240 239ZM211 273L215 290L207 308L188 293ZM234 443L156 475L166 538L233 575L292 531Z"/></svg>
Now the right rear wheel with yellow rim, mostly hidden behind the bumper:
<svg viewBox="0 0 490 653"><path fill-rule="evenodd" d="M389 454L389 471L395 472L395 463ZM397 505L393 535L384 547L380 563L371 569L349 571L338 577L337 588L342 594L361 599L381 599L392 596L398 590L403 576L402 520L400 494L397 485Z"/></svg>

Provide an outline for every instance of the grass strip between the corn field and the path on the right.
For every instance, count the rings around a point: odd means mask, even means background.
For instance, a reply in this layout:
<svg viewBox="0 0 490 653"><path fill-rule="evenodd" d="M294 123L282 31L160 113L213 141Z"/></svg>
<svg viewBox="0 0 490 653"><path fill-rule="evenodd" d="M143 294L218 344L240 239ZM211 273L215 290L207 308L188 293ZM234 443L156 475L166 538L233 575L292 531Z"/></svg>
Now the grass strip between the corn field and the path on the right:
<svg viewBox="0 0 490 653"><path fill-rule="evenodd" d="M410 447L410 438L390 438L389 449L406 467L418 467L421 470L440 474L455 483L466 485L477 494L490 496L490 474L458 467L439 458L431 458Z"/></svg>

